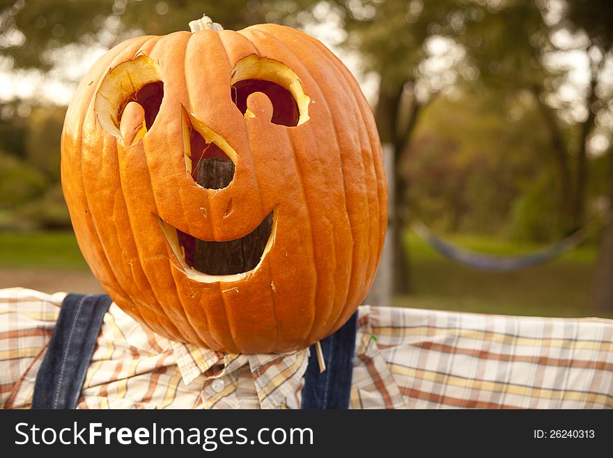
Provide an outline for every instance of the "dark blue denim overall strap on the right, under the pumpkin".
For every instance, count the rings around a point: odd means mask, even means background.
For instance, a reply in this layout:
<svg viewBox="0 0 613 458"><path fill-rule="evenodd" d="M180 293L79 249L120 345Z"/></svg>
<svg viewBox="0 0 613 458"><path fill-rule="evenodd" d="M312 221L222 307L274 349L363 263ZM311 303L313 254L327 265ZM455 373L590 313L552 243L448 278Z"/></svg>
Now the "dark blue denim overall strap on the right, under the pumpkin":
<svg viewBox="0 0 613 458"><path fill-rule="evenodd" d="M311 346L302 409L348 409L356 327L357 312L336 333L320 342L326 363L324 372L319 372L315 347Z"/></svg>

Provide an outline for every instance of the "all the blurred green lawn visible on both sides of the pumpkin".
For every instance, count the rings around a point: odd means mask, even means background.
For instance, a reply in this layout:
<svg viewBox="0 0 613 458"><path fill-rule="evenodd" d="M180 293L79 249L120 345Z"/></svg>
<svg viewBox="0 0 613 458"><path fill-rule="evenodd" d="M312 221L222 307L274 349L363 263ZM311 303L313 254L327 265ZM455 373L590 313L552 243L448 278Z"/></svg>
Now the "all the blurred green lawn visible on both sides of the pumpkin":
<svg viewBox="0 0 613 458"><path fill-rule="evenodd" d="M517 254L535 246L484 237L453 241L472 250ZM394 305L440 310L539 316L591 316L589 289L596 264L593 246L580 247L548 264L511 273L470 270L433 251L413 234L410 252L411 296L396 296ZM69 232L0 234L0 270L88 272L75 236ZM1 275L1 273L0 273ZM609 317L613 317L609 315Z"/></svg>

